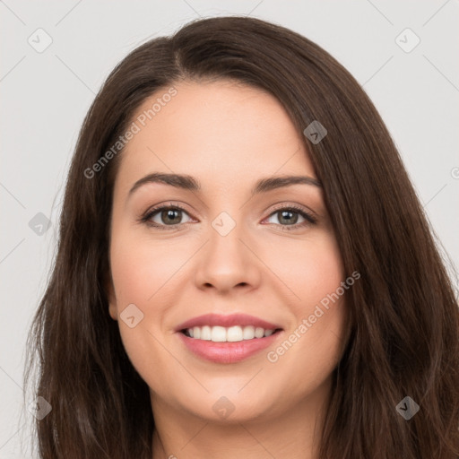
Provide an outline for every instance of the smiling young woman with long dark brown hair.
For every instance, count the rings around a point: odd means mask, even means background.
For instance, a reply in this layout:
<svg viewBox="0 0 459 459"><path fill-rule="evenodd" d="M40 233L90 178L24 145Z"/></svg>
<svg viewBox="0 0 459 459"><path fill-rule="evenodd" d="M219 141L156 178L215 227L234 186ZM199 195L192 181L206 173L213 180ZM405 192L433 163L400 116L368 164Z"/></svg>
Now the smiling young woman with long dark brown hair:
<svg viewBox="0 0 459 459"><path fill-rule="evenodd" d="M109 75L29 345L41 457L459 455L419 200L351 74L272 23L193 22Z"/></svg>

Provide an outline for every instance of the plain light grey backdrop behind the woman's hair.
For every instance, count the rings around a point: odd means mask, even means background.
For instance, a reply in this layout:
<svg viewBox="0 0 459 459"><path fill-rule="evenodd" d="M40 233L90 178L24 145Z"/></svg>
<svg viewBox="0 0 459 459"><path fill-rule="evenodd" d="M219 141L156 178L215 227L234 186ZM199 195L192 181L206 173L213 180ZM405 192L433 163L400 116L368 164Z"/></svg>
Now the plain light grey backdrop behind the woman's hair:
<svg viewBox="0 0 459 459"><path fill-rule="evenodd" d="M1 459L32 457L32 416L22 403L25 338L48 281L65 176L95 93L145 40L199 16L236 13L316 41L363 85L445 256L459 265L458 0L0 0ZM417 39L407 28L420 39L411 50ZM40 49L48 37L51 45Z"/></svg>

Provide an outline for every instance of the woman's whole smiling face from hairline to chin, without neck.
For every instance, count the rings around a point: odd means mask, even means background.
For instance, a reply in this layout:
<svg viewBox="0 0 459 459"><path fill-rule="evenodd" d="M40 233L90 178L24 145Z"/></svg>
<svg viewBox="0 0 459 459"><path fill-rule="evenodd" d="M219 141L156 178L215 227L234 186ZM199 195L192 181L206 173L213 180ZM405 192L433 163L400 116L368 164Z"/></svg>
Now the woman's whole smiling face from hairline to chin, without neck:
<svg viewBox="0 0 459 459"><path fill-rule="evenodd" d="M341 357L347 288L323 192L273 96L227 81L175 88L144 101L122 152L109 314L153 412L280 416L325 396ZM198 186L137 183L159 173ZM303 179L255 190L290 176Z"/></svg>

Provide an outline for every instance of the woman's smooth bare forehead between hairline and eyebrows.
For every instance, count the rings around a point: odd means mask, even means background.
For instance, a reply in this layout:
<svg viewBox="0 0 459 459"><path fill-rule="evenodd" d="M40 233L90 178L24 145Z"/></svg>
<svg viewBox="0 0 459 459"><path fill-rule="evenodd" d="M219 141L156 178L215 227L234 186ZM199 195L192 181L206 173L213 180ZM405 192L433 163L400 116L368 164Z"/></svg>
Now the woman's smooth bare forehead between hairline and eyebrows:
<svg viewBox="0 0 459 459"><path fill-rule="evenodd" d="M134 114L139 132L126 144L117 181L128 186L144 174L173 171L226 188L235 178L315 175L302 138L273 95L230 81L174 88L172 97L164 97L168 87L157 91Z"/></svg>

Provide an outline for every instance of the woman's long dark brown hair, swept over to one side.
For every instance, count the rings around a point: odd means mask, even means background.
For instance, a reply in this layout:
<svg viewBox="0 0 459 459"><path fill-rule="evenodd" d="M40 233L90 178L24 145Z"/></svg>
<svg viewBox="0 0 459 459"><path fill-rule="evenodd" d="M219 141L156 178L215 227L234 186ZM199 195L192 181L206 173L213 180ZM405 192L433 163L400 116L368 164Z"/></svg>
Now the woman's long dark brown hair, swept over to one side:
<svg viewBox="0 0 459 459"><path fill-rule="evenodd" d="M347 292L351 328L333 371L320 458L456 458L459 309L394 142L359 83L324 49L247 17L191 22L134 49L84 120L54 270L28 340L24 381L38 357L34 394L52 406L36 421L40 457L152 457L148 386L108 315L109 221L122 149L97 173L85 170L95 170L154 92L209 79L280 100L323 184L345 272L361 275ZM303 134L314 121L327 131L318 143ZM410 420L395 409L405 396L420 406Z"/></svg>

